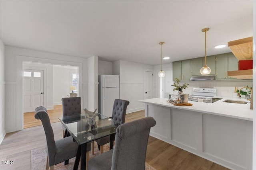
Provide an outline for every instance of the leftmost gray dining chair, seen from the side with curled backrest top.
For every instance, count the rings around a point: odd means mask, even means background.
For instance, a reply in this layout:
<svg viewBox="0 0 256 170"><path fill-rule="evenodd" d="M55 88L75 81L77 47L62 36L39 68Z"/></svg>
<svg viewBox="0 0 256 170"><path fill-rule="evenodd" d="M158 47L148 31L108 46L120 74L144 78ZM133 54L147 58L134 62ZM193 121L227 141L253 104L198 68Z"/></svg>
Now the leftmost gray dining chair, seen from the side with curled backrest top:
<svg viewBox="0 0 256 170"><path fill-rule="evenodd" d="M46 170L54 169L54 165L73 158L76 156L76 152L78 149L78 144L73 142L73 137L65 137L54 141L54 133L52 130L52 126L50 123L50 118L48 116L47 110L43 106L36 107L35 118L40 119L42 121L44 132L46 135L46 143L47 143L47 162L46 162ZM87 155L91 150L91 145L87 145L86 151Z"/></svg>

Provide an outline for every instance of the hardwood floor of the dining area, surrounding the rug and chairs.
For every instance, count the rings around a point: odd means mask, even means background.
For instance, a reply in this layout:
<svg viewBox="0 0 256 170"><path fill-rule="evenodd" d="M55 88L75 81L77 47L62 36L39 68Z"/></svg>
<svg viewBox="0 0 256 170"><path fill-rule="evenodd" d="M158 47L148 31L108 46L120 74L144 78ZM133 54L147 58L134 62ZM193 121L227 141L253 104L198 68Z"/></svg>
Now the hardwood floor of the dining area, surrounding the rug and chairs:
<svg viewBox="0 0 256 170"><path fill-rule="evenodd" d="M144 117L144 111L129 113L126 114L126 122L142 117ZM61 123L52 123L52 128L54 139L61 139ZM0 160L13 160L14 164L3 165L0 162L0 169L30 170L31 150L43 146L46 146L46 139L42 126L30 127L22 131L6 134L0 145ZM174 147L154 137L149 137L148 139L146 162L157 170L228 170L223 166L178 147Z"/></svg>

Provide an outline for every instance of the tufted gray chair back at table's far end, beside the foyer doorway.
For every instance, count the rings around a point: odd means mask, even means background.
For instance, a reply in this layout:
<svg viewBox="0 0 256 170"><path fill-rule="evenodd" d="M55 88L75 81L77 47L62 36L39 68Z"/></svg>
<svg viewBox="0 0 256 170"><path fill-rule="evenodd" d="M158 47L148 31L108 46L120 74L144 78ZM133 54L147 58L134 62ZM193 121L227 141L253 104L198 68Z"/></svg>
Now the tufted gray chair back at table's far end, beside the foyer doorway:
<svg viewBox="0 0 256 170"><path fill-rule="evenodd" d="M62 98L63 117L81 114L81 98Z"/></svg>

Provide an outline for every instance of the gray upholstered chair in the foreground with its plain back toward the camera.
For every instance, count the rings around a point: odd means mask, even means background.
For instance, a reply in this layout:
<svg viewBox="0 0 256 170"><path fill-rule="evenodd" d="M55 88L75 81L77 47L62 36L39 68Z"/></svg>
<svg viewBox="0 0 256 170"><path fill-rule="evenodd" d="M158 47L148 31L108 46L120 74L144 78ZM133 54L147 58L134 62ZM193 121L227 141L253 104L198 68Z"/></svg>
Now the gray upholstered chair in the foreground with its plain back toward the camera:
<svg viewBox="0 0 256 170"><path fill-rule="evenodd" d="M145 117L119 125L114 149L88 161L88 170L145 170L146 150L153 117Z"/></svg>

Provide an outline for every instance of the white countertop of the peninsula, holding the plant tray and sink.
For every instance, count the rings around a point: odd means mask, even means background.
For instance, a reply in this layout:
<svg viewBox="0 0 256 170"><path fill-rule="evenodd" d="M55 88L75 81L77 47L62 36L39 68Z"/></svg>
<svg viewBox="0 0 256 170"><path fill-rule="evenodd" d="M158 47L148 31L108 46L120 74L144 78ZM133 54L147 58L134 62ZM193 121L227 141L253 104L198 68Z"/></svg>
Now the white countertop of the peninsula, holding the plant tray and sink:
<svg viewBox="0 0 256 170"><path fill-rule="evenodd" d="M143 102L147 104L155 104L158 106L172 107L177 109L198 111L202 113L208 113L213 115L221 115L226 117L233 117L237 119L244 119L252 121L252 110L250 109L250 101L244 98L232 98L224 96L214 96L214 98L222 98L221 100L214 103L203 103L203 102L193 102L188 101L193 104L193 106L175 106L169 102L166 102L166 98L153 98L146 100L139 100L138 102ZM235 104L235 103L226 103L224 100L240 100L246 101L247 104Z"/></svg>

